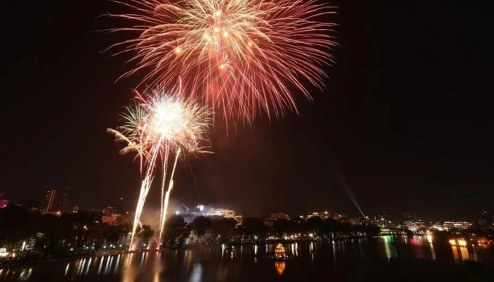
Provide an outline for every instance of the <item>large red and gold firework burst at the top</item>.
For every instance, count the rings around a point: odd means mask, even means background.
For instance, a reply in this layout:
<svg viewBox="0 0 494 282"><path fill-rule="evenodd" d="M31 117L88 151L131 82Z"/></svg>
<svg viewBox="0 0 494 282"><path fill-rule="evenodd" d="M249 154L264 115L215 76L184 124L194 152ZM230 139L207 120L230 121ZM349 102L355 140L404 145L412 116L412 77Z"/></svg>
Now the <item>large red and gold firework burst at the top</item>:
<svg viewBox="0 0 494 282"><path fill-rule="evenodd" d="M121 0L133 10L114 15L140 32L114 46L137 51L149 70L143 82L173 87L183 82L225 118L253 118L258 107L276 116L296 109L290 87L311 97L302 82L321 87L322 67L332 61L334 13L317 0ZM291 86L288 86L291 85Z"/></svg>

